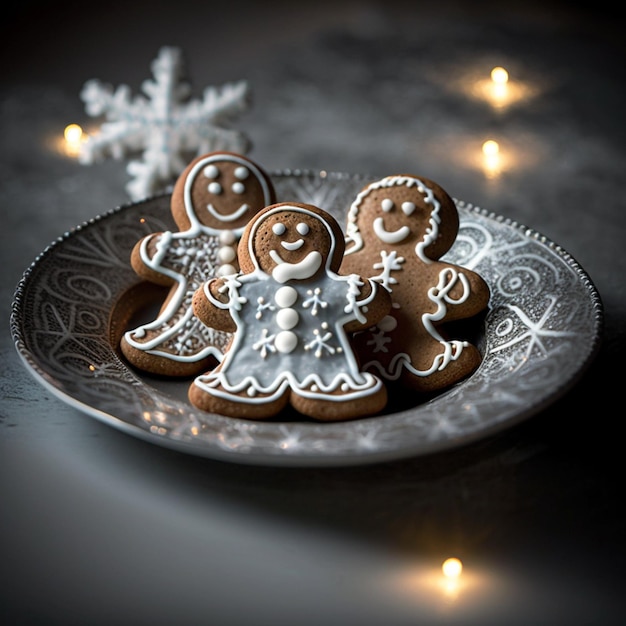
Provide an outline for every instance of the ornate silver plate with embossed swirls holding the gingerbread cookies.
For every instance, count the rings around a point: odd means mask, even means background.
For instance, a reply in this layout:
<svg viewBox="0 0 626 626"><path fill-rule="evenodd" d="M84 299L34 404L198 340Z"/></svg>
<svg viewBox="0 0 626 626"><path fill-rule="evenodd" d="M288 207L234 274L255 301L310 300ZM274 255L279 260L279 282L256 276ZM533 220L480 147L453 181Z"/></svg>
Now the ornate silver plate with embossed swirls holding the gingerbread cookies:
<svg viewBox="0 0 626 626"><path fill-rule="evenodd" d="M280 201L309 202L345 222L370 179L287 171ZM467 444L536 414L572 387L595 357L600 297L562 248L529 228L457 201L460 231L446 260L489 283L472 340L480 368L435 397L407 392L380 416L315 423L285 414L252 422L205 413L186 400L189 380L148 377L119 356L116 303L138 284L129 264L143 235L175 230L169 196L118 207L53 242L17 286L11 331L34 376L110 426L190 454L276 466L355 465Z"/></svg>

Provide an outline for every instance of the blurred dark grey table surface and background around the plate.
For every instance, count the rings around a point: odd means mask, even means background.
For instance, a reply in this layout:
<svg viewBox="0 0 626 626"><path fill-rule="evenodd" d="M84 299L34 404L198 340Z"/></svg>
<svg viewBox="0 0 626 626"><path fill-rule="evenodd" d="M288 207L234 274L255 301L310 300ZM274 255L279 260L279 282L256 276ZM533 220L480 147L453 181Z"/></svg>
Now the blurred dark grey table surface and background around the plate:
<svg viewBox="0 0 626 626"><path fill-rule="evenodd" d="M625 23L605 3L25 2L2 25L0 619L7 625L623 624ZM254 467L81 413L18 357L9 311L60 234L126 203L124 160L54 148L97 78L138 93L164 45L269 170L432 178L588 272L599 355L537 415L462 448L356 467ZM531 86L496 110L458 87ZM517 155L488 177L486 138ZM470 151L470 152L468 152ZM446 593L442 561L462 559Z"/></svg>

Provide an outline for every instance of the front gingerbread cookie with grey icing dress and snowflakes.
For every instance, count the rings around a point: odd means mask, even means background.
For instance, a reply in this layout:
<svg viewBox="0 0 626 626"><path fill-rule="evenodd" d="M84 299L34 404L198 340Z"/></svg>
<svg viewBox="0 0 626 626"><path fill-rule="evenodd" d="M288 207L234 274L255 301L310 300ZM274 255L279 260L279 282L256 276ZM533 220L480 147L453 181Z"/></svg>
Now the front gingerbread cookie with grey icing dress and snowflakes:
<svg viewBox="0 0 626 626"><path fill-rule="evenodd" d="M234 335L222 362L190 386L193 405L265 419L290 403L321 421L384 408L385 386L360 370L348 334L381 320L390 296L375 281L338 273L344 248L337 221L313 205L275 204L250 221L242 272L194 296L198 318Z"/></svg>

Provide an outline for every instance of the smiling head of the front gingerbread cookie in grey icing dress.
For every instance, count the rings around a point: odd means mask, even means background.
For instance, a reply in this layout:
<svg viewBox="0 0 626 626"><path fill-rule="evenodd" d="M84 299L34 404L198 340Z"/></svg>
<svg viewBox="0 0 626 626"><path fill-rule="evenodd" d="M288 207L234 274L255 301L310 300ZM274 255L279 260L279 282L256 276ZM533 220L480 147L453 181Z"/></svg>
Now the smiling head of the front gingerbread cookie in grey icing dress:
<svg viewBox="0 0 626 626"><path fill-rule="evenodd" d="M321 219L311 205L267 207L244 233L239 246L244 272L259 268L278 282L312 278L324 268L337 271L343 255L339 227Z"/></svg>

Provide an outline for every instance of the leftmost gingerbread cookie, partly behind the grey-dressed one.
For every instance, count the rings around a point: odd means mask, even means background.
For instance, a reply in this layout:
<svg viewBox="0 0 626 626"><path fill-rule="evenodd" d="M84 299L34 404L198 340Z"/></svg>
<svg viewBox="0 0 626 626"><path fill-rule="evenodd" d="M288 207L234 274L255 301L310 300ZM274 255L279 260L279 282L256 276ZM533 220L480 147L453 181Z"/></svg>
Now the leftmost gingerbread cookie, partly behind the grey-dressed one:
<svg viewBox="0 0 626 626"><path fill-rule="evenodd" d="M209 278L238 271L245 225L275 201L269 176L242 155L212 152L187 166L171 199L179 232L152 233L131 254L141 278L171 288L156 319L123 335L120 347L130 363L155 374L191 376L221 360L230 334L194 317L193 294Z"/></svg>

